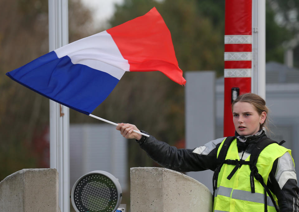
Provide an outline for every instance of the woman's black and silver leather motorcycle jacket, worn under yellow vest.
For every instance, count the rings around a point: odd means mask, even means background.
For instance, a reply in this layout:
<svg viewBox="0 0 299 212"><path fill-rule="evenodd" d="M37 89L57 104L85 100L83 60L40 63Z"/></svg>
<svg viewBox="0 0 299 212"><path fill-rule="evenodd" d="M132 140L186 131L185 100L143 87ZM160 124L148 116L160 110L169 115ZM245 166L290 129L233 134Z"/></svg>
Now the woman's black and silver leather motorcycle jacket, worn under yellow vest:
<svg viewBox="0 0 299 212"><path fill-rule="evenodd" d="M142 131L148 134L145 131ZM237 136L237 135L236 135ZM251 150L248 143L258 142L266 136L263 132L259 136L251 136L246 142L237 139L238 151L241 159L248 157ZM177 149L153 136L142 136L136 142L156 163L162 167L179 172L196 172L210 169L215 170L217 165L217 150L224 138L208 142L202 147L194 149ZM252 145L250 145L252 146ZM294 163L289 153L275 160L268 178L268 187L277 196L280 212L299 211L299 188L297 186Z"/></svg>

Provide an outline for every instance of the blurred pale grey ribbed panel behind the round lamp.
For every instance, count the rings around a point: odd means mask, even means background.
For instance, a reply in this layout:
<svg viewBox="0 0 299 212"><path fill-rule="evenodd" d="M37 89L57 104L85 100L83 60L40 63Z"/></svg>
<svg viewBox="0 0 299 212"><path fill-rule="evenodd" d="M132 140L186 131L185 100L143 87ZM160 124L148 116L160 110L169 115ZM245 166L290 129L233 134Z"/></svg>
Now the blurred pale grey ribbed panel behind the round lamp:
<svg viewBox="0 0 299 212"><path fill-rule="evenodd" d="M101 170L119 179L122 190L127 183L127 139L108 124L70 125L71 186L83 174Z"/></svg>

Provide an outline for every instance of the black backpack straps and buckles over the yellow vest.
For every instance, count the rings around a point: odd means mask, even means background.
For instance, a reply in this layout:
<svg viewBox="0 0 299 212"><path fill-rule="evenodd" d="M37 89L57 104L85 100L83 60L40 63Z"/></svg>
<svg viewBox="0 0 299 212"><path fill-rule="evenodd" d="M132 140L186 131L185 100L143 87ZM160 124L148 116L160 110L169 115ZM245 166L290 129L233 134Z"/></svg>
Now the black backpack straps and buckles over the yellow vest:
<svg viewBox="0 0 299 212"><path fill-rule="evenodd" d="M235 165L235 168L230 172L230 174L227 176L227 179L230 180L233 175L235 174L235 172L242 166L242 165L249 165L250 167L250 187L251 187L251 193L255 193L255 186L254 186L254 178L256 180L258 180L261 185L264 187L264 211L267 212L267 205L268 205L268 201L267 201L267 193L269 195L269 197L271 198L273 205L275 207L275 210L278 212L279 209L276 205L276 202L268 188L268 186L264 183L263 181L263 177L259 174L259 170L256 167L256 163L258 161L259 158L259 154L262 152L262 150L267 147L270 144L273 143L277 143L276 141L273 141L269 138L265 138L260 140L257 144L255 145L255 148L253 149L252 153L250 154L250 158L249 161L244 161L244 160L230 160L227 159L225 160L228 148L230 147L231 142L235 139L234 136L231 137L227 137L220 149L220 152L218 154L217 157L217 167L215 169L214 175L213 175L213 206L214 206L214 197L215 197L215 190L217 189L217 181L218 181L218 175L219 172L221 170L221 167L223 166L223 164L229 164L229 165ZM279 143L279 145L283 144L285 141L282 141Z"/></svg>

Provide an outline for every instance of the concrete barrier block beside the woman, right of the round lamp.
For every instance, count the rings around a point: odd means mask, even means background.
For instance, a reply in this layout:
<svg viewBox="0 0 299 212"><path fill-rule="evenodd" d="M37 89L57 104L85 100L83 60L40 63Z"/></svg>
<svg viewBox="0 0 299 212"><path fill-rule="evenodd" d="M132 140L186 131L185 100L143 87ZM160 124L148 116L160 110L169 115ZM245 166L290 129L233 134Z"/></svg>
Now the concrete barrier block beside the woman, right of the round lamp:
<svg viewBox="0 0 299 212"><path fill-rule="evenodd" d="M131 168L131 212L210 212L212 194L197 180L158 167Z"/></svg>

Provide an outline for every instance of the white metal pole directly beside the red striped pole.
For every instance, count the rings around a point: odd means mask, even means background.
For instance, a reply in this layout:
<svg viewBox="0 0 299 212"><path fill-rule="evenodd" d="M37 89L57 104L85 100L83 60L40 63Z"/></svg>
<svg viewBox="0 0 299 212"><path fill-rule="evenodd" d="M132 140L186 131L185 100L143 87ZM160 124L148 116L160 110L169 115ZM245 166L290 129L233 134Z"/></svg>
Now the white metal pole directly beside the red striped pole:
<svg viewBox="0 0 299 212"><path fill-rule="evenodd" d="M252 1L251 92L266 99L266 1Z"/></svg>

